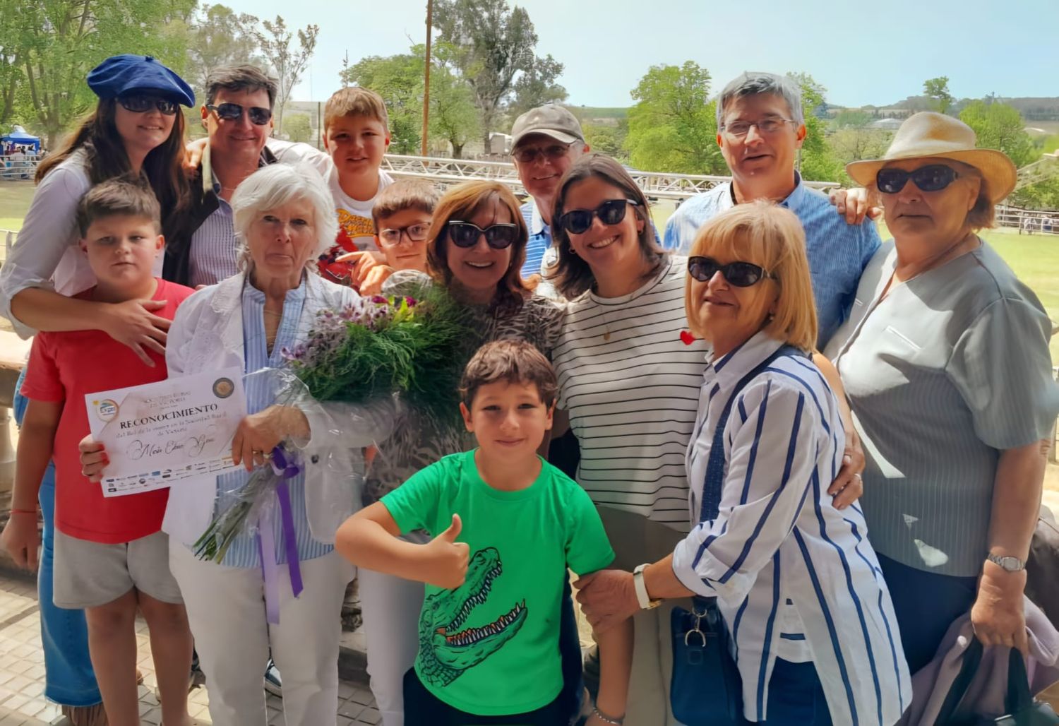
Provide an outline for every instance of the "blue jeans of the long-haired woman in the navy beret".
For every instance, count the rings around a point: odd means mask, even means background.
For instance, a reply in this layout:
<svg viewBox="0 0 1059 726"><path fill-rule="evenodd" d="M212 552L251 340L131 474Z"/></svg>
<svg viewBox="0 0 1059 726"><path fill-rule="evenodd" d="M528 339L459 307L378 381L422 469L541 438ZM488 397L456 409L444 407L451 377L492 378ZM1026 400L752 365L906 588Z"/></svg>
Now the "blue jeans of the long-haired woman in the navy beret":
<svg viewBox="0 0 1059 726"><path fill-rule="evenodd" d="M15 393L15 421L22 423L26 400L22 377ZM88 624L84 610L56 607L52 600L52 563L55 559L55 464L48 463L40 482L40 511L44 533L37 570L40 642L44 650L44 697L62 706L94 706L103 702L95 671L88 656Z"/></svg>

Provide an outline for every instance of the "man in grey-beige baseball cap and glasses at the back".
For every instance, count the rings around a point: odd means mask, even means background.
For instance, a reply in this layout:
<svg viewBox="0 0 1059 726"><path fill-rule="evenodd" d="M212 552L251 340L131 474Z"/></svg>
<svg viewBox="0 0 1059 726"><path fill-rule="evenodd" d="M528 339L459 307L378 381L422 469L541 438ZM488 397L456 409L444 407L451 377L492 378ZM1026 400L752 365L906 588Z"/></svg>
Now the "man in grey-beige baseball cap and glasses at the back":
<svg viewBox="0 0 1059 726"><path fill-rule="evenodd" d="M519 180L532 197L522 205L522 216L530 228L523 278L542 272L555 261L545 259L545 253L552 248L552 207L559 179L588 150L581 125L562 106L538 106L515 120L511 157Z"/></svg>

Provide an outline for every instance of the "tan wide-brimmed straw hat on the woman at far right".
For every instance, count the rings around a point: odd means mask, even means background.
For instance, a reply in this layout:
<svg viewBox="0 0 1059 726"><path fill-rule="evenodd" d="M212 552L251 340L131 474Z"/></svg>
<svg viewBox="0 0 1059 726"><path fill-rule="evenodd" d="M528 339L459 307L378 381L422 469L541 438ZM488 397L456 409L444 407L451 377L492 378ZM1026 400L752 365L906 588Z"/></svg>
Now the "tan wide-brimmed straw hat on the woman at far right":
<svg viewBox="0 0 1059 726"><path fill-rule="evenodd" d="M875 175L891 161L939 158L973 166L989 182L989 197L997 203L1015 189L1018 171L1007 155L992 148L975 148L974 131L959 119L933 111L909 117L894 135L881 159L854 161L846 173L862 187L875 183Z"/></svg>

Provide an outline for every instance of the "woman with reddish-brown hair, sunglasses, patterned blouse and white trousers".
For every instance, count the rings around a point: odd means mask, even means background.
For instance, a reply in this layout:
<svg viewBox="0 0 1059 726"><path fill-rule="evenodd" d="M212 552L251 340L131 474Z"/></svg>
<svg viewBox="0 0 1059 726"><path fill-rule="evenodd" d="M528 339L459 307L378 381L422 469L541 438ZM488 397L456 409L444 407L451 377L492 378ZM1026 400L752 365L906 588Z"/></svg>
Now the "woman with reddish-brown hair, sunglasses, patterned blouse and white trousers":
<svg viewBox="0 0 1059 726"><path fill-rule="evenodd" d="M473 327L470 334L480 336L482 343L525 340L550 357L561 330L562 306L537 295L522 280L527 238L518 199L507 187L493 181L452 187L434 208L427 234L427 270L394 272L382 285L382 294L412 294L425 280L432 280L466 305ZM371 458L364 506L378 501L442 457L474 445L473 437L462 426L439 425L415 411L402 413L394 433ZM410 538L427 542L415 536ZM399 726L403 676L412 668L418 648L423 584L364 569L358 577L372 691L383 724ZM564 607L561 642L572 652L574 675L568 680L576 680L580 668L577 626L572 603ZM573 711L576 704L571 700L568 706Z"/></svg>

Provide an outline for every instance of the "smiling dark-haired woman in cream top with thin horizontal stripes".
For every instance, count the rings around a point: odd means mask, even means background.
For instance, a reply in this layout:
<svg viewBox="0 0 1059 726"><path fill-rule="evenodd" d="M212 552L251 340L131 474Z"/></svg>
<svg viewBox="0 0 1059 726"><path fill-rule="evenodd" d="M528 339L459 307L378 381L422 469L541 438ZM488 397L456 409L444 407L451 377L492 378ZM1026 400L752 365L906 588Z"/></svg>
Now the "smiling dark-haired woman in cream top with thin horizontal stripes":
<svg viewBox="0 0 1059 726"><path fill-rule="evenodd" d="M687 531L684 450L706 347L681 339L683 259L658 246L647 199L621 164L598 154L579 159L552 219L554 281L570 300L553 353L558 407L577 436L577 481L599 506L614 566L631 569L671 552ZM553 436L562 433L561 412ZM639 614L635 630L625 723L676 723L668 608Z"/></svg>

